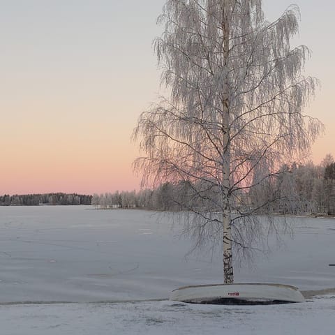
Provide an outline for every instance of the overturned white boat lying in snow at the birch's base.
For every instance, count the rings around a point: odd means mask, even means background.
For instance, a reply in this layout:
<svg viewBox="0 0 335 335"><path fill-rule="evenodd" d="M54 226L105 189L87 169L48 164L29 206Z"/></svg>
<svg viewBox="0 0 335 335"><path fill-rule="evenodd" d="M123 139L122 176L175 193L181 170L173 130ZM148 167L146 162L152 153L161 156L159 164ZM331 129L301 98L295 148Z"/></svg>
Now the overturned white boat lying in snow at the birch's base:
<svg viewBox="0 0 335 335"><path fill-rule="evenodd" d="M172 291L170 300L193 304L285 304L305 301L295 286L262 283L184 286Z"/></svg>

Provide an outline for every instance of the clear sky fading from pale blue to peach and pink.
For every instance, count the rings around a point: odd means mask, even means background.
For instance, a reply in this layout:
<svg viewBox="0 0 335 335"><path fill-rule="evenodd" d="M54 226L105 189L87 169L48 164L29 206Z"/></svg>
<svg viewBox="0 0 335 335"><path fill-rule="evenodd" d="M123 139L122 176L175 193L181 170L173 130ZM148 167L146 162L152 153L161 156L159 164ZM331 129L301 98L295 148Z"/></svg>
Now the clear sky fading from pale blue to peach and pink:
<svg viewBox="0 0 335 335"><path fill-rule="evenodd" d="M0 0L0 194L137 188L130 136L158 92L151 41L163 0ZM295 43L322 89L308 113L327 126L315 163L335 156L335 4L295 1ZM264 1L274 20L292 1ZM6 177L5 177L6 176Z"/></svg>

